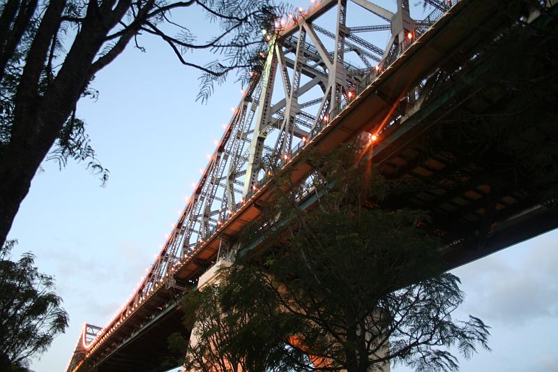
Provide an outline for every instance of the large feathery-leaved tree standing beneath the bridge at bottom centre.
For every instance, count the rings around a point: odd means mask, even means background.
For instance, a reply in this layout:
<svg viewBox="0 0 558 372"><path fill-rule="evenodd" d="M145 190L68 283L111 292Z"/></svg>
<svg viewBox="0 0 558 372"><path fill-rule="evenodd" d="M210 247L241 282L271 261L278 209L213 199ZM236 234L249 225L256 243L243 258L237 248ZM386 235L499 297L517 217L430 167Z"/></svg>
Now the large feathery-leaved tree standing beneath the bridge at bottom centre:
<svg viewBox="0 0 558 372"><path fill-rule="evenodd" d="M278 348L282 360L292 360L292 350L306 352L315 364L309 371L380 371L390 363L455 371L458 359L448 348L471 357L479 345L488 348L488 327L473 316L452 318L464 295L459 279L444 272L440 241L421 228L428 216L363 207L389 193L370 163L355 163L367 149L307 159L315 169L311 211L299 207L308 193L289 174L276 178L276 199L242 238L266 248L229 269L219 306L226 314L258 304L260 327L250 327L250 319L244 326L255 335L269 334L265 325L281 314L291 325L276 336L289 345Z"/></svg>

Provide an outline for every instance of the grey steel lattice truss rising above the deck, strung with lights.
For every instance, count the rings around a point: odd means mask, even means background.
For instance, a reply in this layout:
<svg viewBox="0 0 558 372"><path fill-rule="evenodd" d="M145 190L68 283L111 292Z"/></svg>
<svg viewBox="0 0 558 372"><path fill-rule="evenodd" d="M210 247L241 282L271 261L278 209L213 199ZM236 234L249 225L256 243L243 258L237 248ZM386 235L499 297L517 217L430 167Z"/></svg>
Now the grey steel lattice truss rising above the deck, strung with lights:
<svg viewBox="0 0 558 372"><path fill-rule="evenodd" d="M455 3L426 1L432 13L417 21L409 15L408 0L398 0L395 13L368 0L351 1L365 10L357 22L371 25L347 26L347 0L324 0L278 20L278 34L265 36L269 47L262 73L253 74L149 274L105 329L84 330L89 338L76 348L68 371L78 369L161 285L172 283L173 272L195 258L204 241L271 177L270 168L287 163ZM391 31L385 49L372 41L382 31ZM410 89L407 101L414 108L409 110L418 110L422 92L437 78L425 77ZM391 123L397 120L393 117Z"/></svg>

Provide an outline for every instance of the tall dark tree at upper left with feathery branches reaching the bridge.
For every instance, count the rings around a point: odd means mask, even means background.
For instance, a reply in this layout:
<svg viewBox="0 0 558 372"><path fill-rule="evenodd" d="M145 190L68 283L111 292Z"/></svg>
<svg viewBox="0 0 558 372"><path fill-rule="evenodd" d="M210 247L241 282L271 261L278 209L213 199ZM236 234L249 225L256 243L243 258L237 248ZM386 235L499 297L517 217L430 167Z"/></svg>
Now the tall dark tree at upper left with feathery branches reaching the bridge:
<svg viewBox="0 0 558 372"><path fill-rule="evenodd" d="M206 42L196 42L172 12L197 10L218 24ZM262 29L273 31L277 8L267 0L3 0L0 3L0 244L6 240L33 175L50 158L88 161L102 174L76 116L77 101L95 91L96 73L138 36L149 34L172 48L181 64L202 71L198 98L232 70L257 73L263 60ZM170 34L176 29L177 35ZM133 41L132 41L133 40ZM220 61L197 64L190 51L208 50ZM260 55L262 54L262 55Z"/></svg>

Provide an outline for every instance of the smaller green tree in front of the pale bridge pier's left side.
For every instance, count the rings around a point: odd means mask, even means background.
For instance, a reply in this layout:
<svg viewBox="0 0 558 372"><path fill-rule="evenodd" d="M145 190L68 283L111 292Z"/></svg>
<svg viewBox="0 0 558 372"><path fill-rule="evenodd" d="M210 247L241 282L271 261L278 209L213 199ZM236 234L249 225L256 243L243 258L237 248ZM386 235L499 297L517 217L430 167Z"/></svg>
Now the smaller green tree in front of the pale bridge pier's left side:
<svg viewBox="0 0 558 372"><path fill-rule="evenodd" d="M183 323L192 337L187 340L179 332L169 337L169 348L182 356L186 350L186 356L167 366L182 364L186 371L203 372L288 372L293 365L308 364L299 350L285 353L285 334L293 333L295 325L285 313L264 308L263 302L236 302L223 308L223 295L221 283L186 294Z"/></svg>

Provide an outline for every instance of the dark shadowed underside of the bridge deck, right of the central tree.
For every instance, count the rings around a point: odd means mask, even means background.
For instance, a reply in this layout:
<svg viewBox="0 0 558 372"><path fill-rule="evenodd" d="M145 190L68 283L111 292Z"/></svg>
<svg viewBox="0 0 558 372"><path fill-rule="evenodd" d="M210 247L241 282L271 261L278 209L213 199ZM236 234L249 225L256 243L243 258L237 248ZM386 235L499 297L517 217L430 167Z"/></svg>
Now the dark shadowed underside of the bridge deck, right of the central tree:
<svg viewBox="0 0 558 372"><path fill-rule="evenodd" d="M428 211L451 267L557 228L557 45L549 15L441 74L421 110L384 134L373 161L391 193L370 207Z"/></svg>

